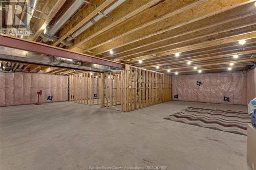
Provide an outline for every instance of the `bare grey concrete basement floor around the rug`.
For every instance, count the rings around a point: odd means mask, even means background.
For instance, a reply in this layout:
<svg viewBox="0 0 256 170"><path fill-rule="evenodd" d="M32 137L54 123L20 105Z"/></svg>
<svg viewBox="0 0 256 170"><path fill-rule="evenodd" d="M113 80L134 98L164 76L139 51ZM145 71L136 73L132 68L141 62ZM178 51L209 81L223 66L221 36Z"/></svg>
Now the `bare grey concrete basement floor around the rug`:
<svg viewBox="0 0 256 170"><path fill-rule="evenodd" d="M246 136L163 119L188 106L247 109L177 101L129 113L72 102L2 107L0 168L249 169Z"/></svg>

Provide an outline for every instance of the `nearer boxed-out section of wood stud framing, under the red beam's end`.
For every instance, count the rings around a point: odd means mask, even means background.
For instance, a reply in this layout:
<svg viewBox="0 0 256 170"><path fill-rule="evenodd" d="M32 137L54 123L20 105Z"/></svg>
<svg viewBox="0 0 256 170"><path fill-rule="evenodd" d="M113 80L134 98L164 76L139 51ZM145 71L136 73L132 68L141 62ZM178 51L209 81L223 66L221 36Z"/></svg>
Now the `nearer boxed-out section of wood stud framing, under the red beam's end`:
<svg viewBox="0 0 256 170"><path fill-rule="evenodd" d="M104 78L101 107L127 112L171 100L171 77L159 72L126 64L125 70L105 73Z"/></svg>

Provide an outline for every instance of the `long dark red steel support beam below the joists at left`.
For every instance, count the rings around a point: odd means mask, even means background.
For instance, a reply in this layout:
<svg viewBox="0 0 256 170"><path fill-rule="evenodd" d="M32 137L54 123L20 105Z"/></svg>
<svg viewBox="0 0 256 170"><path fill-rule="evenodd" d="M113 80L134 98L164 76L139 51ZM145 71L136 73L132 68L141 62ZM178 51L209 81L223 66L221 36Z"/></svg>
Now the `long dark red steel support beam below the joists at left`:
<svg viewBox="0 0 256 170"><path fill-rule="evenodd" d="M102 59L102 58L98 58L90 55L85 55L82 53L76 53L76 52L72 52L56 46L42 44L34 41L28 41L28 40L11 37L3 34L0 34L0 45L19 49L19 50L35 52L39 54L72 59L76 61L95 63L99 65L105 65L105 66L116 67L121 69L125 68L125 65L123 63L106 60L106 59Z"/></svg>

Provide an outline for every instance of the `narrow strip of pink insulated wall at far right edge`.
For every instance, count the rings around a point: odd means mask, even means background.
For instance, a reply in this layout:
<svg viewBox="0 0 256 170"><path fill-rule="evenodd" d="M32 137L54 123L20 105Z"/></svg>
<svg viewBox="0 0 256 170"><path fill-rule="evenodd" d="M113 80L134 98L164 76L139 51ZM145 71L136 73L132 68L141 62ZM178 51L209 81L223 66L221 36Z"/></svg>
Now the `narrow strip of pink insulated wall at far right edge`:
<svg viewBox="0 0 256 170"><path fill-rule="evenodd" d="M247 103L256 98L256 68L247 72Z"/></svg>

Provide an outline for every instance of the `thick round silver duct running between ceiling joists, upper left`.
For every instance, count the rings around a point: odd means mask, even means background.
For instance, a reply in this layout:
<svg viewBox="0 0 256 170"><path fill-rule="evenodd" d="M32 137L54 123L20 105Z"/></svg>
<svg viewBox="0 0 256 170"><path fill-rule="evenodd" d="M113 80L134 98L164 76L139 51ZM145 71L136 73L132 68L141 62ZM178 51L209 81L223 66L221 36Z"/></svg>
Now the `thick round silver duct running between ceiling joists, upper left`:
<svg viewBox="0 0 256 170"><path fill-rule="evenodd" d="M58 20L54 23L54 25L50 28L49 34L54 35L56 34L59 29L65 24L67 20L69 20L72 15L83 5L84 0L76 0L70 7L69 9L61 15Z"/></svg>

